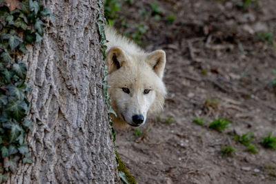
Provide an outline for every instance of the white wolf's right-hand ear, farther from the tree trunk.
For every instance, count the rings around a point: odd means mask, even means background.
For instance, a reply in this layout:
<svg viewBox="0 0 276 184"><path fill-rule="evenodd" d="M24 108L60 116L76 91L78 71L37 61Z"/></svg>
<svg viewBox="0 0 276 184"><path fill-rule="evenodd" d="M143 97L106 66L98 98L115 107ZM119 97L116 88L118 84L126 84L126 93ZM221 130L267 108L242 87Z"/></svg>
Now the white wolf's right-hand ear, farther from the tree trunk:
<svg viewBox="0 0 276 184"><path fill-rule="evenodd" d="M157 76L162 79L166 65L166 52L164 50L155 50L148 54L146 62L152 67Z"/></svg>

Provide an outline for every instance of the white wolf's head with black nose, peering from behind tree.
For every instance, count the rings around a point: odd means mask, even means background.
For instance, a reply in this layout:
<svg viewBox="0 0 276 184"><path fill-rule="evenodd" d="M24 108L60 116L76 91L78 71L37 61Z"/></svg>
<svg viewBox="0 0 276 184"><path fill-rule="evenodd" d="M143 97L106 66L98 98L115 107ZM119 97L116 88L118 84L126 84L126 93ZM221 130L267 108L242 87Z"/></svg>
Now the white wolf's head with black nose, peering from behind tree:
<svg viewBox="0 0 276 184"><path fill-rule="evenodd" d="M144 125L146 118L162 110L166 88L162 81L166 64L163 50L128 53L113 47L106 55L110 104L117 121Z"/></svg>

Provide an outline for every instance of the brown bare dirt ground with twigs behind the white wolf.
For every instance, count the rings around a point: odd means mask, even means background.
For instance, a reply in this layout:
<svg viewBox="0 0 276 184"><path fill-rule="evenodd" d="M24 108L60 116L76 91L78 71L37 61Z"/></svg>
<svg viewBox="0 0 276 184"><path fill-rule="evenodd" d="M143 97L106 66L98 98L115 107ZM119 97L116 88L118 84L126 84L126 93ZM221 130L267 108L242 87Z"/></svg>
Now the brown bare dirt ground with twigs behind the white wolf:
<svg viewBox="0 0 276 184"><path fill-rule="evenodd" d="M115 23L119 32L147 25L142 47L167 54L164 112L144 127L117 132L117 150L129 172L137 183L276 183L276 150L260 144L269 132L276 136L270 86L275 39L257 36L276 35L276 1L243 10L237 1L162 0L161 12L153 11L152 2L124 2L124 21ZM217 132L193 123L196 116L206 124L219 117L232 123ZM257 154L233 139L247 132L254 133ZM221 155L225 145L235 148L233 156Z"/></svg>

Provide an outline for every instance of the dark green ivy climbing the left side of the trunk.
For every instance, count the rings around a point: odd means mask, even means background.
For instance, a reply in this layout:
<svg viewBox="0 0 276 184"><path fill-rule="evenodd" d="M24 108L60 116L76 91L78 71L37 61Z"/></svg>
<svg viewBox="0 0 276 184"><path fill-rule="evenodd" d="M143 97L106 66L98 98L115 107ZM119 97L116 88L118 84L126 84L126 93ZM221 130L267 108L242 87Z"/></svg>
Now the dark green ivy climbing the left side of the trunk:
<svg viewBox="0 0 276 184"><path fill-rule="evenodd" d="M19 160L32 163L25 141L32 131L32 121L25 119L31 88L18 56L26 54L27 44L41 43L46 16L52 13L39 1L0 0L0 183L7 172L16 172Z"/></svg>

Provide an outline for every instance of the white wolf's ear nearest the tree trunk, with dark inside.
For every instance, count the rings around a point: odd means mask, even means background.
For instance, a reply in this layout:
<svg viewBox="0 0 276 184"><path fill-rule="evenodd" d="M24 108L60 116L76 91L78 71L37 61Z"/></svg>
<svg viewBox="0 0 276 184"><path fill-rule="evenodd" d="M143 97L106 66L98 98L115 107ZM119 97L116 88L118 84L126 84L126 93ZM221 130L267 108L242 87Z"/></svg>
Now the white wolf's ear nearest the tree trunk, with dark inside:
<svg viewBox="0 0 276 184"><path fill-rule="evenodd" d="M106 55L106 65L108 66L108 73L112 73L115 70L121 68L126 62L126 54L120 47L110 48Z"/></svg>

